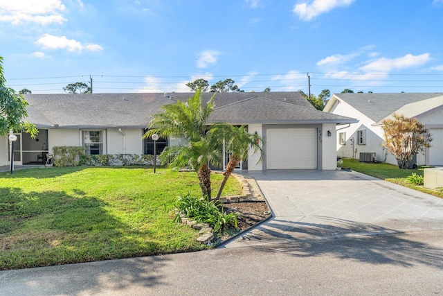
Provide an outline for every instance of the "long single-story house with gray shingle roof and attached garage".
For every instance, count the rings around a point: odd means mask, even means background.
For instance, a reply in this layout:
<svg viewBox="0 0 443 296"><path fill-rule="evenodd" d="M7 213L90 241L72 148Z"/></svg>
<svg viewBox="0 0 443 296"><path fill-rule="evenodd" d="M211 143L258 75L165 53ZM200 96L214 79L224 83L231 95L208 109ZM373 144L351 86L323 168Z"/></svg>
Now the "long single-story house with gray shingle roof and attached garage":
<svg viewBox="0 0 443 296"><path fill-rule="evenodd" d="M161 105L187 100L193 93L28 94L28 121L37 139L17 133L15 164L41 164L54 146L84 146L88 154L153 154L142 139L150 115ZM202 94L208 101L214 93ZM263 161L251 155L242 169L335 169L336 125L355 119L320 112L299 92L216 93L209 123L248 125L266 140ZM157 153L178 139L157 141ZM0 166L8 164L8 137L0 137ZM225 161L226 163L226 161Z"/></svg>

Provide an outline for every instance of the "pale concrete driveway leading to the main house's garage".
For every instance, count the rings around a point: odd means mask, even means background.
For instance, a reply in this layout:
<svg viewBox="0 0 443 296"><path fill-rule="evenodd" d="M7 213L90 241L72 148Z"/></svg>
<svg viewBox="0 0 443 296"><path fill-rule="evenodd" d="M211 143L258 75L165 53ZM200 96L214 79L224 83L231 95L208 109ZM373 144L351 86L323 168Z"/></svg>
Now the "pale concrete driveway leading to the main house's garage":
<svg viewBox="0 0 443 296"><path fill-rule="evenodd" d="M221 247L443 229L443 199L348 171L264 171L274 217Z"/></svg>

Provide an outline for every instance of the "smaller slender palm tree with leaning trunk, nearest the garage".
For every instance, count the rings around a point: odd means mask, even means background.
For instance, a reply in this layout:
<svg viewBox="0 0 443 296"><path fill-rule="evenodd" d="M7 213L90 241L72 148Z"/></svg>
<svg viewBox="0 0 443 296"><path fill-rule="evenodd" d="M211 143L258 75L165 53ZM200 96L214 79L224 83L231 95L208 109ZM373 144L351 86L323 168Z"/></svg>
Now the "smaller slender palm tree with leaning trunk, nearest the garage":
<svg viewBox="0 0 443 296"><path fill-rule="evenodd" d="M246 160L248 157L250 148L253 154L260 151L259 162L262 161L262 148L264 143L263 138L260 137L256 132L250 134L245 125L240 127L230 125L230 128L228 130L224 128L223 132L225 148L226 151L230 153L230 157L229 162L226 165L226 170L223 173L224 178L221 181L220 188L216 196L217 199L220 198L224 185L226 184L226 181L228 181L229 176L233 173L235 167L238 166L242 160Z"/></svg>

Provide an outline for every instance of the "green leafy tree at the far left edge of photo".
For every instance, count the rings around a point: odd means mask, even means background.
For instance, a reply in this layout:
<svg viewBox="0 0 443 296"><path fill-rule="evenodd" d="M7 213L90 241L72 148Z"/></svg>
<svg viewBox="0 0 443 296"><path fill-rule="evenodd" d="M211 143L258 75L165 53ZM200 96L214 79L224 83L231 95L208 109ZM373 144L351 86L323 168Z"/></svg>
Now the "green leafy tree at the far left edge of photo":
<svg viewBox="0 0 443 296"><path fill-rule="evenodd" d="M28 116L25 101L21 94L14 89L6 87L6 79L3 75L3 57L0 56L0 135L5 135L10 130L25 130L31 137L38 134L35 125L25 121Z"/></svg>

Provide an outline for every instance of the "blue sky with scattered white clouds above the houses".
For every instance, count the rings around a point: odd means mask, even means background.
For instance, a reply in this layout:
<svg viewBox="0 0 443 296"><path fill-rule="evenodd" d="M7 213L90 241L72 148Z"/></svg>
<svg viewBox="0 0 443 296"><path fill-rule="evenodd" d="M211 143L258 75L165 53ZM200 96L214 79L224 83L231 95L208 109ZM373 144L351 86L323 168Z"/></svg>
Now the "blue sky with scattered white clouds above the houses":
<svg viewBox="0 0 443 296"><path fill-rule="evenodd" d="M443 0L0 0L7 85L443 92Z"/></svg>

